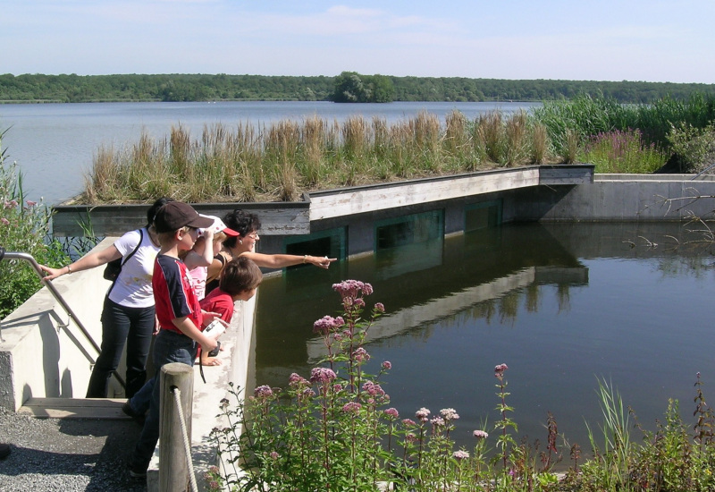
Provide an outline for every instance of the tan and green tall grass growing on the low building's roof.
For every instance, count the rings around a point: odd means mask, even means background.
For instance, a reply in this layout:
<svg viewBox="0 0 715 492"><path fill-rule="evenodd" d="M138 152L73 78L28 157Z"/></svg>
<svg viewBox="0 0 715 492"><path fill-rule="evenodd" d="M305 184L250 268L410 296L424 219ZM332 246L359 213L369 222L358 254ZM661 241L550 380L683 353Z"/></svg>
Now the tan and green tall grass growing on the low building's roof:
<svg viewBox="0 0 715 492"><path fill-rule="evenodd" d="M558 162L550 148L543 125L523 112L218 123L198 137L178 125L164 139L142 132L127 147L99 148L81 201L291 201L304 191Z"/></svg>

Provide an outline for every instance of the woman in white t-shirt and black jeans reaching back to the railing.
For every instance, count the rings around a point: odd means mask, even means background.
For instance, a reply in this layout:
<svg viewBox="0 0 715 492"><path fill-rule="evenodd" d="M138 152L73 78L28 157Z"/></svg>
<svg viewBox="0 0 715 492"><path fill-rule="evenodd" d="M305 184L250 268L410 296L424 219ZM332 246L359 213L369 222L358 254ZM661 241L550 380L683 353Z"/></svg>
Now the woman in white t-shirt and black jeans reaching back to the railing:
<svg viewBox="0 0 715 492"><path fill-rule="evenodd" d="M151 276L159 251L152 224L156 211L170 201L173 200L157 199L147 210L146 226L124 233L105 250L89 253L62 268L40 265L49 274L45 280L52 280L122 259L122 271L105 296L101 352L89 377L87 398L106 398L109 378L119 366L124 344L127 345L127 397L139 391L146 382L147 358L156 326Z"/></svg>

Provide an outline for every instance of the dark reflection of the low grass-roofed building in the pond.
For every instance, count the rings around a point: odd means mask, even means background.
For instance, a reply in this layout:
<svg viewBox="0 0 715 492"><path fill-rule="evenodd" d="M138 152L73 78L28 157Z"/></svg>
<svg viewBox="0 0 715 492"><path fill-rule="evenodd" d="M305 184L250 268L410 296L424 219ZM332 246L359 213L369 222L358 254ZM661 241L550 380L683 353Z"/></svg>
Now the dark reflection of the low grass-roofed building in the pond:
<svg viewBox="0 0 715 492"><path fill-rule="evenodd" d="M472 317L495 312L510 318L514 301L533 305L544 284L568 293L569 286L588 282L588 270L542 225L511 225L380 250L328 272L297 268L269 276L257 305L260 384L282 386L291 372L321 358L323 342L311 327L315 319L335 315L339 298L331 285L346 278L374 285L366 301L383 302L387 315L368 338L383 339L429 336L425 328L466 310Z"/></svg>

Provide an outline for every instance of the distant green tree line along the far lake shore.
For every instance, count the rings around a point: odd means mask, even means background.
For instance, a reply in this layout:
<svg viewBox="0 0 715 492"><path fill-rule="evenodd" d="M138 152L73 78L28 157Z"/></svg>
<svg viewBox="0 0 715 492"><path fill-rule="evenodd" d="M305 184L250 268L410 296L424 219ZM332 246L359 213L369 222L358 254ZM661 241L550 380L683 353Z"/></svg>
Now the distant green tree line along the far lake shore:
<svg viewBox="0 0 715 492"><path fill-rule="evenodd" d="M392 77L342 72L326 76L164 75L0 75L2 102L298 100L544 101L579 94L621 103L650 103L669 96L715 93L715 84L639 81L510 81L461 77Z"/></svg>

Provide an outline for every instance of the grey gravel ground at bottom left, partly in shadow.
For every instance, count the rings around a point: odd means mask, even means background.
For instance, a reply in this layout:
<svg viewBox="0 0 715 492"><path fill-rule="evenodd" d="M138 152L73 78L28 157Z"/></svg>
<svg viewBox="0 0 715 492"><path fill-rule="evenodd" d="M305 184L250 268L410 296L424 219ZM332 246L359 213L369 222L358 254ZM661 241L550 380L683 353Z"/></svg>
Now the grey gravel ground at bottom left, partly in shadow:
<svg viewBox="0 0 715 492"><path fill-rule="evenodd" d="M127 459L141 428L132 420L34 419L0 409L0 491L145 492Z"/></svg>

